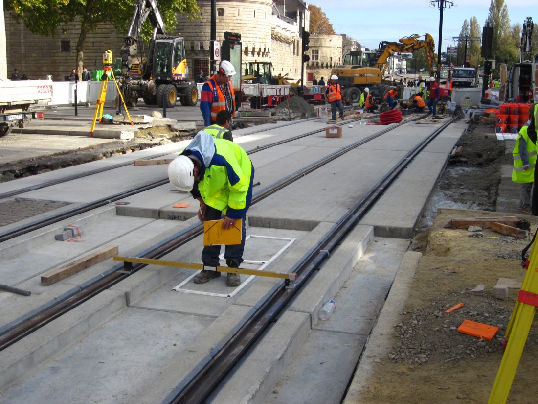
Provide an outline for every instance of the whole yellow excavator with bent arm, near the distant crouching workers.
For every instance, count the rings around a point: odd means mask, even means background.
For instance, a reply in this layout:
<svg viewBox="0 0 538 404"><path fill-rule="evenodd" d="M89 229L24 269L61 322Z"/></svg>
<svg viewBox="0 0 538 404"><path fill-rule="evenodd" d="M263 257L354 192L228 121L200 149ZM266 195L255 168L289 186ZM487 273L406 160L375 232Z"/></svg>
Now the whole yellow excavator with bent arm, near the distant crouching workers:
<svg viewBox="0 0 538 404"><path fill-rule="evenodd" d="M419 39L422 37L424 39ZM422 36L413 34L401 38L399 42L381 41L378 48L378 51L346 53L343 65L331 69L331 75L338 76L338 83L349 103L358 103L365 87L370 88L374 97L383 99L390 87L383 85L381 79L388 67L389 57L395 53L414 53L423 49L426 52L428 71L434 75L435 41L428 33Z"/></svg>

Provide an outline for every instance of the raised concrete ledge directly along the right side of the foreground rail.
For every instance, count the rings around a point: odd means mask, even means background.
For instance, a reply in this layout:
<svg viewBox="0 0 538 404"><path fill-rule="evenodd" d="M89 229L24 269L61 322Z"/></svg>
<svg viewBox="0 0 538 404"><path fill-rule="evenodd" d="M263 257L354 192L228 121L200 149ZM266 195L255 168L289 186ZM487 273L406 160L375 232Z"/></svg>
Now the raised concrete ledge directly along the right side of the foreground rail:
<svg viewBox="0 0 538 404"><path fill-rule="evenodd" d="M317 322L325 299L336 294L372 240L373 227L353 229L211 402L264 401Z"/></svg>

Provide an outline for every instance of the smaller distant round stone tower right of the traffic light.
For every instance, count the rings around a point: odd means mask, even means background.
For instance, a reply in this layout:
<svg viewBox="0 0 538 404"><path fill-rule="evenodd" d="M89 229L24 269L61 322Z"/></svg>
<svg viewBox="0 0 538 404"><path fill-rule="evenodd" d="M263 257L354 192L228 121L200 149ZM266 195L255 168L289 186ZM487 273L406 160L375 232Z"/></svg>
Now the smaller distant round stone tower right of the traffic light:
<svg viewBox="0 0 538 404"><path fill-rule="evenodd" d="M342 44L340 35L310 35L308 53L310 60L306 64L307 85L324 78L325 83L331 75L331 69L342 64Z"/></svg>

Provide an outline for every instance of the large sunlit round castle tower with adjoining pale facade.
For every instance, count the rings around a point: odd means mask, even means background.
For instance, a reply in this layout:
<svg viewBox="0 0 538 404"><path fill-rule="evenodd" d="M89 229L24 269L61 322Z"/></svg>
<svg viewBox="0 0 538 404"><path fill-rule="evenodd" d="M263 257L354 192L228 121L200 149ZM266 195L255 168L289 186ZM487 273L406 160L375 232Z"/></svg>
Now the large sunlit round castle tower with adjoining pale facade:
<svg viewBox="0 0 538 404"><path fill-rule="evenodd" d="M201 19L178 16L178 29L186 38L188 57L195 71L209 74L211 2L200 0ZM301 0L222 0L217 2L216 39L224 32L239 33L242 75L249 61L270 61L273 74L301 76L301 27L308 29L309 11ZM190 61L190 60L189 60Z"/></svg>

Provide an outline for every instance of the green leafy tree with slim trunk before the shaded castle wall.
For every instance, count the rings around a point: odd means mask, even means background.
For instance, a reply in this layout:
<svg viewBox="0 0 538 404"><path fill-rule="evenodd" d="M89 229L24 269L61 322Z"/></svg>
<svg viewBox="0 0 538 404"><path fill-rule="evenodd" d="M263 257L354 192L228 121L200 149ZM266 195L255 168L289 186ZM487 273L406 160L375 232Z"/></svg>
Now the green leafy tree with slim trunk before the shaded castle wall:
<svg viewBox="0 0 538 404"><path fill-rule="evenodd" d="M160 12L167 30L173 32L176 14L185 13L191 19L200 11L196 0L161 0ZM133 3L114 0L5 0L5 12L10 12L17 22L22 21L32 33L54 38L56 29L65 24L80 22L80 34L76 43L77 72L82 72L84 46L88 33L95 32L98 23L112 24L118 32L127 32ZM150 22L144 24L145 38L151 32Z"/></svg>

